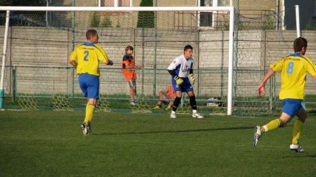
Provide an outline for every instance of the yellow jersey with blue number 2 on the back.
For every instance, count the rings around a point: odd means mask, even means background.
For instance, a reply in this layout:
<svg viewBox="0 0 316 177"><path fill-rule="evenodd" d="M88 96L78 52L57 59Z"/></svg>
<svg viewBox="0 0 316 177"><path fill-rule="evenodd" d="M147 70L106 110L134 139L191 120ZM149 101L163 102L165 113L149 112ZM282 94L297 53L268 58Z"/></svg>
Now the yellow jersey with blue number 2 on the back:
<svg viewBox="0 0 316 177"><path fill-rule="evenodd" d="M103 48L92 42L77 45L71 53L70 59L78 60L77 74L89 73L97 76L100 76L99 61L109 61Z"/></svg>

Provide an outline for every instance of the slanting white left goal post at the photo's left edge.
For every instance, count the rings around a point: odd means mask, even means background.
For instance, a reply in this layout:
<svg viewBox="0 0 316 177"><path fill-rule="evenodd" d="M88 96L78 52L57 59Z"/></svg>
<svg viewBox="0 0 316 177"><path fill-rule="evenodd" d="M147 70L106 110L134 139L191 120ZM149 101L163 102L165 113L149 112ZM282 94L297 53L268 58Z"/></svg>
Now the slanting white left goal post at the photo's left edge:
<svg viewBox="0 0 316 177"><path fill-rule="evenodd" d="M8 34L9 34L9 22L10 22L10 11L7 11L6 18L6 29L5 29L5 39L3 43L3 56L2 56L2 68L1 68L1 80L0 80L0 110L3 108L4 103L4 81L5 81L5 69L6 69L6 59L7 59L7 44L8 44Z"/></svg>

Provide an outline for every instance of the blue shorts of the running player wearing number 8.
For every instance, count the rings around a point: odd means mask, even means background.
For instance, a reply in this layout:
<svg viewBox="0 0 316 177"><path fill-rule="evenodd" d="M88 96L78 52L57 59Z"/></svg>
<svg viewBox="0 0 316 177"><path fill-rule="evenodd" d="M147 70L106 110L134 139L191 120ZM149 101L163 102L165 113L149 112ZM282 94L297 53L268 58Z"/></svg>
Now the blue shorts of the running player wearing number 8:
<svg viewBox="0 0 316 177"><path fill-rule="evenodd" d="M287 115L293 118L296 112L301 109L302 101L303 101L302 99L292 99L292 98L281 99L281 102L284 105L282 112L286 113Z"/></svg>

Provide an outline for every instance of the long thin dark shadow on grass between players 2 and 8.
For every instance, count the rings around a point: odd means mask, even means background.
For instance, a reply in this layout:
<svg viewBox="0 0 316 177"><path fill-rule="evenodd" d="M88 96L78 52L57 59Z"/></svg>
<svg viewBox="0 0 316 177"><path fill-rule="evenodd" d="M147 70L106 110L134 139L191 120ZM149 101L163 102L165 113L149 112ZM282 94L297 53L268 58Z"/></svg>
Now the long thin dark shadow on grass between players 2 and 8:
<svg viewBox="0 0 316 177"><path fill-rule="evenodd" d="M92 134L92 135L132 135L132 134L153 134L153 133L186 133L186 132L205 132L205 131L223 131L223 130L245 130L253 129L253 127L234 127L223 129L199 129L199 130L178 130L178 131L155 131L155 132L127 132L127 133L108 133L108 134Z"/></svg>

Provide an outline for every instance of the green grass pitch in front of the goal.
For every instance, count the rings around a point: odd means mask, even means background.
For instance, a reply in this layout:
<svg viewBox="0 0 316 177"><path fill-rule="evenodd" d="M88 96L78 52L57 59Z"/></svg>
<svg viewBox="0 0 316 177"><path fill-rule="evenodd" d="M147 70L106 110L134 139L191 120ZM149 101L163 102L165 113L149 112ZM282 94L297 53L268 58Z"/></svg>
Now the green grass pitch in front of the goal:
<svg viewBox="0 0 316 177"><path fill-rule="evenodd" d="M276 117L0 111L1 176L316 176L316 113L289 150L294 120L252 145L253 127Z"/></svg>

